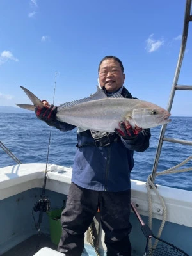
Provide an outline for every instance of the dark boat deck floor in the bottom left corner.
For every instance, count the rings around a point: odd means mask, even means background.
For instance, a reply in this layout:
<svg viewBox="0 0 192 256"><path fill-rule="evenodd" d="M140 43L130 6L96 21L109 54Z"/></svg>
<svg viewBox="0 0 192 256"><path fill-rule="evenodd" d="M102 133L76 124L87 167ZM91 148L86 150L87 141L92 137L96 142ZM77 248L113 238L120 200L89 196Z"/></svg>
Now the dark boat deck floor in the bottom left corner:
<svg viewBox="0 0 192 256"><path fill-rule="evenodd" d="M45 234L36 234L15 247L8 252L3 253L1 256L33 256L43 247L49 247L57 250L56 244L51 242L51 238Z"/></svg>

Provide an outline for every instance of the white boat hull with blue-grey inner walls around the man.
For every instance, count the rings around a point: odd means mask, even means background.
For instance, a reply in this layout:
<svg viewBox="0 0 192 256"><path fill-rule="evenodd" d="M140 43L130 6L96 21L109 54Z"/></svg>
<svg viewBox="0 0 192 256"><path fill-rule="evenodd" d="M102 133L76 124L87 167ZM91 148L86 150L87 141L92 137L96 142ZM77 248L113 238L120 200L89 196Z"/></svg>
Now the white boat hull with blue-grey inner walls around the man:
<svg viewBox="0 0 192 256"><path fill-rule="evenodd" d="M63 206L71 182L72 168L49 165L47 168L46 195L51 202L51 208ZM0 168L0 255L10 250L30 236L37 233L31 215L36 201L42 193L44 182L45 164L20 164ZM148 222L148 196L145 182L131 180L131 200L137 205L138 212L145 223ZM171 241L177 247L192 255L192 192L181 189L158 186L158 191L166 204L167 219L162 238ZM64 200L64 201L63 201ZM152 191L153 205L153 230L156 234L163 216L159 198ZM38 213L36 213L38 218ZM131 214L132 232L131 244L133 255L141 255L146 243L146 238L141 232L141 225L136 216ZM49 221L44 213L41 231L49 234ZM100 231L100 252L106 250L104 232ZM85 236L85 244L86 236Z"/></svg>

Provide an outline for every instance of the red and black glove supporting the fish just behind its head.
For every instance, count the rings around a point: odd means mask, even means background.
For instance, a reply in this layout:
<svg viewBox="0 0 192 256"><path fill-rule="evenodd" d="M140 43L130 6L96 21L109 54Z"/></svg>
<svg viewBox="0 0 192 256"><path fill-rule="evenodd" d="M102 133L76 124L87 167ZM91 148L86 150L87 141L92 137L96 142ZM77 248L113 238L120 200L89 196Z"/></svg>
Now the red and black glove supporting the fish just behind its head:
<svg viewBox="0 0 192 256"><path fill-rule="evenodd" d="M120 129L115 129L116 134L121 136L125 140L132 140L138 136L142 131L142 128L132 128L131 124L127 120L119 122Z"/></svg>

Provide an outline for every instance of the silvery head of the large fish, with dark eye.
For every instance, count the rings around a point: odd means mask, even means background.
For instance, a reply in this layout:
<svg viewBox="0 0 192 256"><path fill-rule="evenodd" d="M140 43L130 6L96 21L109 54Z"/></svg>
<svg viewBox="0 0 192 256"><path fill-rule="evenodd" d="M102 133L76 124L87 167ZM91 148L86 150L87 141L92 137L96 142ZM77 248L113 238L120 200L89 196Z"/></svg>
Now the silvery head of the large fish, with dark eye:
<svg viewBox="0 0 192 256"><path fill-rule="evenodd" d="M170 115L171 114L164 108L154 104L147 104L147 106L142 106L132 111L131 122L134 122L134 125L144 129L152 128L170 122Z"/></svg>

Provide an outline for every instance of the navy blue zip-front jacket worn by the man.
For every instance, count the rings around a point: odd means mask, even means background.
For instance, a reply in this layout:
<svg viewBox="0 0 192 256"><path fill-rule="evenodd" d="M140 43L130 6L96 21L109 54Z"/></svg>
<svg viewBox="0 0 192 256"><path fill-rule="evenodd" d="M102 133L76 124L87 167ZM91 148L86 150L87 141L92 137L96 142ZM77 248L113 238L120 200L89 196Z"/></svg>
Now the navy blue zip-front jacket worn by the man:
<svg viewBox="0 0 192 256"><path fill-rule="evenodd" d="M132 98L124 88L124 97ZM61 131L69 131L74 125L54 122ZM131 188L130 172L134 166L134 150L143 152L149 147L150 129L143 129L132 140L121 137L105 147L97 147L90 130L77 133L77 152L74 158L72 182L97 191L125 191ZM81 147L82 146L82 147Z"/></svg>

